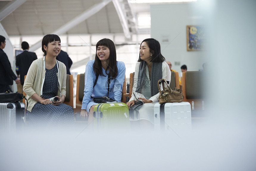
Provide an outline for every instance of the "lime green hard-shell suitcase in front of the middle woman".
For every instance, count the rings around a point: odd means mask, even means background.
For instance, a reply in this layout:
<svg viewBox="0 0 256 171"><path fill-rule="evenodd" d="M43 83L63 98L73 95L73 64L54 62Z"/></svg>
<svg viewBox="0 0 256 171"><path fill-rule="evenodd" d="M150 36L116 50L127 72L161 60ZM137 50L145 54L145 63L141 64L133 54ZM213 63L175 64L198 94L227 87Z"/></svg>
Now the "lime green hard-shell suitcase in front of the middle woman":
<svg viewBox="0 0 256 171"><path fill-rule="evenodd" d="M99 103L93 109L93 125L98 129L129 129L129 109L125 103Z"/></svg>

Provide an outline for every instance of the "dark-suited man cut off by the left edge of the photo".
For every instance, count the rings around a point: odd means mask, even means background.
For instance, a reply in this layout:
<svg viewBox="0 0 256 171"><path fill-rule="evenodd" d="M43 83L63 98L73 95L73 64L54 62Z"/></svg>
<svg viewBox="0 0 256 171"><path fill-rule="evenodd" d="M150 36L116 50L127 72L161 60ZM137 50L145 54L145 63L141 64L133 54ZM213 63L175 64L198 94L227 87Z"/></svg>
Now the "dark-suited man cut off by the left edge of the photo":
<svg viewBox="0 0 256 171"><path fill-rule="evenodd" d="M8 89L9 85L13 85L13 80L16 84L20 83L19 78L12 70L6 53L3 51L4 47L5 37L0 35L0 93L5 93L5 89Z"/></svg>

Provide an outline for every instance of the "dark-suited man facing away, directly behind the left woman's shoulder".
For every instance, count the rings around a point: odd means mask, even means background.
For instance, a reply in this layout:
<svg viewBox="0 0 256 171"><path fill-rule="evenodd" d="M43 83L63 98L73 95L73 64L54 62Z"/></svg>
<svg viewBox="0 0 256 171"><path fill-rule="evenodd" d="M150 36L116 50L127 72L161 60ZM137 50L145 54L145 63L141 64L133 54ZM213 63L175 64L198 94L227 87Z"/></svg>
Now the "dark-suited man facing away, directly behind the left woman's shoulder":
<svg viewBox="0 0 256 171"><path fill-rule="evenodd" d="M37 56L34 52L29 52L29 44L26 41L21 43L23 52L16 56L16 73L20 75L21 84L17 84L18 93L23 93L24 76L27 75L30 65Z"/></svg>

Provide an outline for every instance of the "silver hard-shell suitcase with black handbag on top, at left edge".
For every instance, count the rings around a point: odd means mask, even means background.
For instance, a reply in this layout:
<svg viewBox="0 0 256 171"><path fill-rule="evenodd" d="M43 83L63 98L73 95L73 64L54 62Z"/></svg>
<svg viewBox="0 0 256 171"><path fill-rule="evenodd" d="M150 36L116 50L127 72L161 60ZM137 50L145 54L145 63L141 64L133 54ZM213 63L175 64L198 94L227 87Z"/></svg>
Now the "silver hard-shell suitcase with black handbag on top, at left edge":
<svg viewBox="0 0 256 171"><path fill-rule="evenodd" d="M23 131L26 127L25 104L21 102L0 103L0 132Z"/></svg>

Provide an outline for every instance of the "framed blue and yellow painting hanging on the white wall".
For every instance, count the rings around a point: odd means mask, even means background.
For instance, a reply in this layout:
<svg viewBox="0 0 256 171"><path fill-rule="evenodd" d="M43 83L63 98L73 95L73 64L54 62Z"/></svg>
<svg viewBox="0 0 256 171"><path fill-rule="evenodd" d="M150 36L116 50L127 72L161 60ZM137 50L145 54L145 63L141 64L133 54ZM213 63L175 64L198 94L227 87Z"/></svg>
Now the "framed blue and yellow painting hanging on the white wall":
<svg viewBox="0 0 256 171"><path fill-rule="evenodd" d="M187 26L187 51L204 49L205 33L202 26Z"/></svg>

